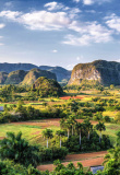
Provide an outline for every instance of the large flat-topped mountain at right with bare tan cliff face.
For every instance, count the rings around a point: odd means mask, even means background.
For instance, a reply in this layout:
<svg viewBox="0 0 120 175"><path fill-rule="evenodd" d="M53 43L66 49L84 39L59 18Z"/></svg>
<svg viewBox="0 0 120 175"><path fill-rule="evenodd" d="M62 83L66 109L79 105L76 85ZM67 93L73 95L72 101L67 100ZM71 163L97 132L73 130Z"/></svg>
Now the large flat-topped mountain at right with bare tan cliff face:
<svg viewBox="0 0 120 175"><path fill-rule="evenodd" d="M95 80L104 85L120 85L120 63L105 60L79 63L73 68L69 85L79 85L82 80Z"/></svg>

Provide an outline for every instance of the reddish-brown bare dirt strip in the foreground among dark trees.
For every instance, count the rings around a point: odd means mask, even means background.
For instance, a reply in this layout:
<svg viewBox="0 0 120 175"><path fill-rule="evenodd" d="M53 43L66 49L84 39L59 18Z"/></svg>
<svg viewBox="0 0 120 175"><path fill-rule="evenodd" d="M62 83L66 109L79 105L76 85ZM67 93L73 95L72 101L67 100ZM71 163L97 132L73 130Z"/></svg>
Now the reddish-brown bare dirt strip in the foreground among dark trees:
<svg viewBox="0 0 120 175"><path fill-rule="evenodd" d="M84 167L101 165L106 153L107 153L107 151L84 153L84 154L72 154L72 155L68 155L62 164L68 165L70 163L70 161L72 161L75 166L77 165L77 162L81 162ZM51 171L53 171L55 166L53 166L53 164L47 164L47 165L40 165L37 168L39 171L48 170L51 172Z"/></svg>

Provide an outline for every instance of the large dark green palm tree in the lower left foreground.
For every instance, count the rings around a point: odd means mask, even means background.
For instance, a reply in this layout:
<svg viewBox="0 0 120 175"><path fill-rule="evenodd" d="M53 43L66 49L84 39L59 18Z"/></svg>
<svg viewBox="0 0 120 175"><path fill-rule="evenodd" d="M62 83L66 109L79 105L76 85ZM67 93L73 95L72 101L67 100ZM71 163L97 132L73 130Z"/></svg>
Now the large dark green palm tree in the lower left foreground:
<svg viewBox="0 0 120 175"><path fill-rule="evenodd" d="M0 158L13 160L24 166L32 164L36 167L40 162L37 147L31 145L25 139L22 139L22 132L16 136L13 132L7 132L7 138L0 142Z"/></svg>

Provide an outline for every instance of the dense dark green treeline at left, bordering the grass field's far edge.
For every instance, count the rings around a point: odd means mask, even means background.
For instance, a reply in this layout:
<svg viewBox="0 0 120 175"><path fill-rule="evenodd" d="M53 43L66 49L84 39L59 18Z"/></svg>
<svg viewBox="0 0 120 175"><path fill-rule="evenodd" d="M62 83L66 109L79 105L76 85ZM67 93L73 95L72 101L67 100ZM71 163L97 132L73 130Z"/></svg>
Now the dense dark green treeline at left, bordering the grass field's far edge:
<svg viewBox="0 0 120 175"><path fill-rule="evenodd" d="M0 124L12 121L26 121L43 118L63 118L67 115L60 108L46 108L40 112L32 106L25 107L21 103L17 105L4 105L4 112L0 113Z"/></svg>

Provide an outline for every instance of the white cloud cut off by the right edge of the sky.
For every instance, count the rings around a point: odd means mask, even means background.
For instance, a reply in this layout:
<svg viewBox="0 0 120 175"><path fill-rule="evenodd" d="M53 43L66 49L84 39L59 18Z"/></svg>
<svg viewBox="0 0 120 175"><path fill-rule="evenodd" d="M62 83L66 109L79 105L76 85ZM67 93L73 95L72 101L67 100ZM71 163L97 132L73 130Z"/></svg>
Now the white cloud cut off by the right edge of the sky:
<svg viewBox="0 0 120 175"><path fill-rule="evenodd" d="M116 30L118 33L120 33L120 16L117 16L115 13L110 16L105 18L106 24L112 28Z"/></svg>

